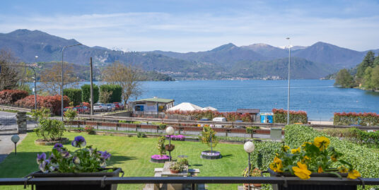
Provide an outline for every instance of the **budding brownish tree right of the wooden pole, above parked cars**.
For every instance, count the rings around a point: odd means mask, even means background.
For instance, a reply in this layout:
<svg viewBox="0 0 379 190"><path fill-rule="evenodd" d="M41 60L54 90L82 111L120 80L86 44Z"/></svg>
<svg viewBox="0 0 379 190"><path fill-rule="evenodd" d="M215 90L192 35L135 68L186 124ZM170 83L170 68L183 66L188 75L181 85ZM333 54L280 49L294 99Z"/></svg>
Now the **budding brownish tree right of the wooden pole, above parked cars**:
<svg viewBox="0 0 379 190"><path fill-rule="evenodd" d="M136 97L142 93L138 73L138 70L132 66L126 66L116 61L105 67L102 77L108 83L121 86L122 99L124 100L124 105L127 105L129 97Z"/></svg>

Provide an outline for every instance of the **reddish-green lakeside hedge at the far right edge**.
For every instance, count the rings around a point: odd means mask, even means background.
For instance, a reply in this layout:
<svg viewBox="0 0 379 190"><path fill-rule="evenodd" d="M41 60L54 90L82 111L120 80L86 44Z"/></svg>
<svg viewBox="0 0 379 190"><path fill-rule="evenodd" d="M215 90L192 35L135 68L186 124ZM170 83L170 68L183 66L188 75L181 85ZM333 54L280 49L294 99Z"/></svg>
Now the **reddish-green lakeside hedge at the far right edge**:
<svg viewBox="0 0 379 190"><path fill-rule="evenodd" d="M334 113L334 125L361 125L361 126L379 126L379 114L376 113Z"/></svg>

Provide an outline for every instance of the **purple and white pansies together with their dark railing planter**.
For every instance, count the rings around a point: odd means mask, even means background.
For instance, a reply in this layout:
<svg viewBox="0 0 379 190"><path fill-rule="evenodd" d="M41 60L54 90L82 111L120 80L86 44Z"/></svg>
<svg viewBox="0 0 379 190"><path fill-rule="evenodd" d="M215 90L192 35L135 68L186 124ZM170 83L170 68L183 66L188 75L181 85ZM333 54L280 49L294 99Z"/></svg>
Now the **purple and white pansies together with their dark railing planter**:
<svg viewBox="0 0 379 190"><path fill-rule="evenodd" d="M71 143L78 148L74 152L69 151L62 144L57 143L52 148L52 153L47 157L46 153L37 154L39 172L30 174L32 177L118 177L120 168L106 168L110 160L110 153L100 151L92 146L86 146L83 136L76 136ZM117 184L99 185L37 185L37 189L117 189Z"/></svg>

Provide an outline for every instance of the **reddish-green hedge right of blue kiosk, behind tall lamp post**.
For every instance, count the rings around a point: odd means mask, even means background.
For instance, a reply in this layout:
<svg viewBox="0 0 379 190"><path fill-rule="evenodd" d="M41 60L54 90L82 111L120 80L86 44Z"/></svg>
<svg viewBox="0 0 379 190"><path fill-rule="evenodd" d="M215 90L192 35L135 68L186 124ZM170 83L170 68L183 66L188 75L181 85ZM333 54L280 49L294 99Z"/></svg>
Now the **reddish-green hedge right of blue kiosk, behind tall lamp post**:
<svg viewBox="0 0 379 190"><path fill-rule="evenodd" d="M274 123L286 124L287 123L287 110L284 109L272 109L274 113ZM289 111L289 123L308 123L307 112L304 111Z"/></svg>

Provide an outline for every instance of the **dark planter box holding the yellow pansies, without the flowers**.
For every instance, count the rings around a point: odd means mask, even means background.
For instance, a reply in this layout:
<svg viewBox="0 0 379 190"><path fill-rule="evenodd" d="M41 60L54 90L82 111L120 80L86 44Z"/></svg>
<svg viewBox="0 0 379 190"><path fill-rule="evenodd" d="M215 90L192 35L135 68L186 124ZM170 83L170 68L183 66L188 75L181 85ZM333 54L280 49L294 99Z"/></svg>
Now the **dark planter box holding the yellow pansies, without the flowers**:
<svg viewBox="0 0 379 190"><path fill-rule="evenodd" d="M295 175L284 172L284 173L277 173L272 171L271 169L268 169L268 172L271 177L296 177ZM342 177L347 177L347 174L341 174ZM310 174L311 178L315 177L335 177L336 180L337 176L335 174L326 174L326 173L312 173ZM298 179L303 180L303 179ZM328 190L328 189L346 189L346 190L356 190L356 185L334 185L334 184L327 184L327 185L320 185L320 184L288 184L286 187L283 184L272 184L272 189L274 190L290 190L290 189L310 189L310 190Z"/></svg>

